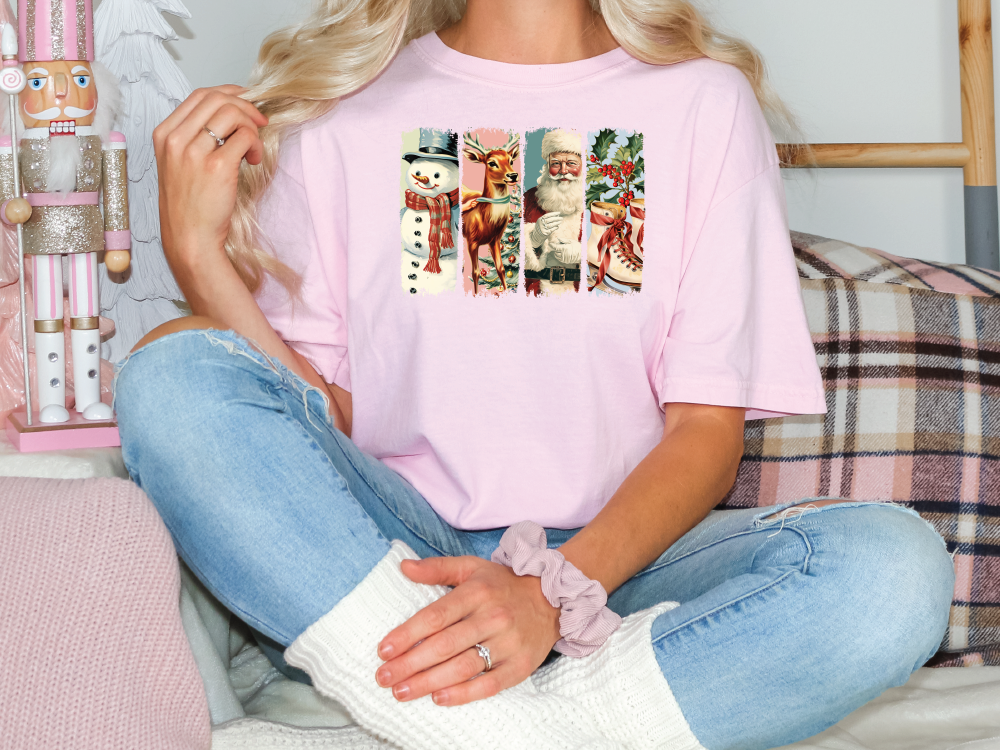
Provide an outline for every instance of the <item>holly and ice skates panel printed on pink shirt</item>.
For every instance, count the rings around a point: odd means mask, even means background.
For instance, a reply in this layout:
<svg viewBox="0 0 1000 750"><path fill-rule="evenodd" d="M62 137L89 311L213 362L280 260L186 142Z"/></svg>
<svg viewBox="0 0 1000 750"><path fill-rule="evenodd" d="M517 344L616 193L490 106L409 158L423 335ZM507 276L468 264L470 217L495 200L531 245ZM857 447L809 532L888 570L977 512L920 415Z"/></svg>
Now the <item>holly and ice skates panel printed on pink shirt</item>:
<svg viewBox="0 0 1000 750"><path fill-rule="evenodd" d="M646 222L642 133L587 136L587 288L598 294L642 289Z"/></svg>

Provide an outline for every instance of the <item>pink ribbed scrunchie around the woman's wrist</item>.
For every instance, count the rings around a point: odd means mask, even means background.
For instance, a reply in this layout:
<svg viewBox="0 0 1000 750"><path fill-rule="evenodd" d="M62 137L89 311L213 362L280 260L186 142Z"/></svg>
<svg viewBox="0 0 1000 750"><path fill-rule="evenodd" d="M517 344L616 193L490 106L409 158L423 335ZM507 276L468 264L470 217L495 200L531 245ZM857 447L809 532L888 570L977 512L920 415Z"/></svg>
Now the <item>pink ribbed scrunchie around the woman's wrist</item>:
<svg viewBox="0 0 1000 750"><path fill-rule="evenodd" d="M562 611L562 638L555 645L561 654L592 654L622 624L622 618L607 608L604 587L587 578L561 552L548 549L545 529L533 521L522 521L507 529L491 559L519 576L542 579L542 594Z"/></svg>

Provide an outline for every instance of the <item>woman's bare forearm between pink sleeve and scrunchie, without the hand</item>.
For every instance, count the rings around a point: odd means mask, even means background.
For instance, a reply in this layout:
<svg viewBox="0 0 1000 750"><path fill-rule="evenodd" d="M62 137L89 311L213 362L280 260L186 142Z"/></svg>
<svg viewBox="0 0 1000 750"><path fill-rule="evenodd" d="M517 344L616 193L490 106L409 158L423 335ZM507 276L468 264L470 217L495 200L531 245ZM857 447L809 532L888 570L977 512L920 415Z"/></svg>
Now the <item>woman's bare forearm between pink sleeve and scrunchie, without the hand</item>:
<svg viewBox="0 0 1000 750"><path fill-rule="evenodd" d="M668 404L663 439L560 548L608 593L701 522L736 480L745 410Z"/></svg>

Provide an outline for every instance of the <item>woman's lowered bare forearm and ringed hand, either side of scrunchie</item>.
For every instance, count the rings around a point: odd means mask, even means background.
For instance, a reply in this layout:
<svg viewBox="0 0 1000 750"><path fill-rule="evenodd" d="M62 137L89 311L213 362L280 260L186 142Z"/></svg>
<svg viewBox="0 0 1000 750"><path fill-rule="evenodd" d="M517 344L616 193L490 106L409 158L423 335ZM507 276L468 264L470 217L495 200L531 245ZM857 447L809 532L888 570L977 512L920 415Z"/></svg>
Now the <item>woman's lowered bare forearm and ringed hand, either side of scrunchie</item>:
<svg viewBox="0 0 1000 750"><path fill-rule="evenodd" d="M698 524L732 486L743 452L743 409L667 406L663 439L608 504L560 551L614 591ZM559 639L560 610L541 580L477 557L403 563L418 583L455 587L389 633L379 684L399 700L433 694L440 705L495 695L528 677ZM495 666L464 658L486 641Z"/></svg>

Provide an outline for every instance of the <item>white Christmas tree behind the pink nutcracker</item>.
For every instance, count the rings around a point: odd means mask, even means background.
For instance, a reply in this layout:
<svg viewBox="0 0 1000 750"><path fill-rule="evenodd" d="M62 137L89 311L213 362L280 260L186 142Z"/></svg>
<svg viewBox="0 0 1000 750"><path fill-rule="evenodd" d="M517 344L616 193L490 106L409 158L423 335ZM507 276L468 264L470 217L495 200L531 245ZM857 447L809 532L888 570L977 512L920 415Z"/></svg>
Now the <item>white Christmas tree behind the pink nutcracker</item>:
<svg viewBox="0 0 1000 750"><path fill-rule="evenodd" d="M95 52L120 82L116 127L128 144L132 267L122 279L108 278L101 265L101 314L117 328L103 352L112 362L181 314L177 303L183 296L160 243L153 129L187 98L191 84L163 47L177 34L161 13L191 17L180 0L103 0L94 14Z"/></svg>

